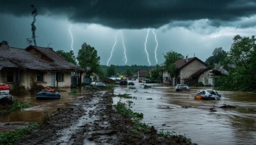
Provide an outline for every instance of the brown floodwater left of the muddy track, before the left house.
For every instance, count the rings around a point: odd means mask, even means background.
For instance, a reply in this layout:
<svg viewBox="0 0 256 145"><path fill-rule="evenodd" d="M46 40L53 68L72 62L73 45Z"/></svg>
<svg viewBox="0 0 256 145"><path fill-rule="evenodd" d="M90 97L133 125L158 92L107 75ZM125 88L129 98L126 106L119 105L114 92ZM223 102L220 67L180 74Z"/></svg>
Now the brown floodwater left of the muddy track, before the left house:
<svg viewBox="0 0 256 145"><path fill-rule="evenodd" d="M41 123L47 116L56 111L58 107L65 107L72 100L81 97L81 93L77 93L76 95L70 94L70 88L61 88L61 90L63 90L61 92L61 99L36 100L36 95L31 93L15 97L15 99L19 99L20 101L31 102L32 107L26 108L23 111L13 111L6 116L0 117L0 132L21 128L29 123Z"/></svg>

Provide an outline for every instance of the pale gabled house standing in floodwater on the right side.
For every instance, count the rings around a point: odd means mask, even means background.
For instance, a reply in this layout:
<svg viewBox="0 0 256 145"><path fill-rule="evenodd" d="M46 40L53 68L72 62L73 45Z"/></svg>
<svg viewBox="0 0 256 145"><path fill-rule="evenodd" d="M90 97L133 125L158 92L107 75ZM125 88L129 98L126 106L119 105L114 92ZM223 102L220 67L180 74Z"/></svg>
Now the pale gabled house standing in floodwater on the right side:
<svg viewBox="0 0 256 145"><path fill-rule="evenodd" d="M212 72L207 65L197 57L177 60L174 63L178 72L171 78L168 71L162 69L163 83L166 85L188 84L202 82L204 85L213 85Z"/></svg>

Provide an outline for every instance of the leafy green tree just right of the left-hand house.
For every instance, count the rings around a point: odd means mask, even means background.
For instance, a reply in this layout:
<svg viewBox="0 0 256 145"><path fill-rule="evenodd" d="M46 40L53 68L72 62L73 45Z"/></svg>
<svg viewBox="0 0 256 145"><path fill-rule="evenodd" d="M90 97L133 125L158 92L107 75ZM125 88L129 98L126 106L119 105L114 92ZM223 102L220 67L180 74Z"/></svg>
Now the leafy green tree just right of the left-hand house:
<svg viewBox="0 0 256 145"><path fill-rule="evenodd" d="M77 60L81 67L86 69L86 76L89 77L93 72L102 74L100 67L100 57L97 55L97 50L94 47L83 43L78 51Z"/></svg>

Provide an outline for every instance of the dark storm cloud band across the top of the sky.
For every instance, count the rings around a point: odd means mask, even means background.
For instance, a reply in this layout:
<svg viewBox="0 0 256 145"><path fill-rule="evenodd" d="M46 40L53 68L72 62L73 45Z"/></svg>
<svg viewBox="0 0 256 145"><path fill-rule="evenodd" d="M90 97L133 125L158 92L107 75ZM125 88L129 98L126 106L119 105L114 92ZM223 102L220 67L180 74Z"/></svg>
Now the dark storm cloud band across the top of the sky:
<svg viewBox="0 0 256 145"><path fill-rule="evenodd" d="M31 15L31 4L38 15L65 15L68 19L113 28L161 27L175 21L209 19L212 25L237 22L256 13L253 0L24 0L2 1L1 13ZM234 25L234 24L233 24ZM186 25L185 25L186 26ZM244 25L246 27L246 25Z"/></svg>

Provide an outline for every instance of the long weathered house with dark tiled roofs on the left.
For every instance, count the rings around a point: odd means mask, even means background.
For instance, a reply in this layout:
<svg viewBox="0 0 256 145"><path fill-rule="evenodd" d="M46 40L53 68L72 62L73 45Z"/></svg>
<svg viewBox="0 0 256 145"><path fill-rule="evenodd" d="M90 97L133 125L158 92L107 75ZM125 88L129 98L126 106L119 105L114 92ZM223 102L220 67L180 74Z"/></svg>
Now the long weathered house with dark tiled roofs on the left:
<svg viewBox="0 0 256 145"><path fill-rule="evenodd" d="M25 49L0 43L0 82L12 86L19 83L27 90L33 85L68 87L72 74L81 84L83 69L54 52L52 48L28 46Z"/></svg>

